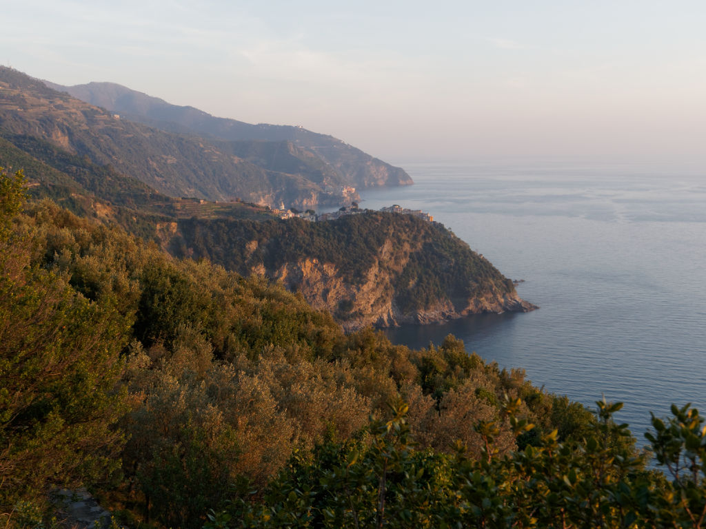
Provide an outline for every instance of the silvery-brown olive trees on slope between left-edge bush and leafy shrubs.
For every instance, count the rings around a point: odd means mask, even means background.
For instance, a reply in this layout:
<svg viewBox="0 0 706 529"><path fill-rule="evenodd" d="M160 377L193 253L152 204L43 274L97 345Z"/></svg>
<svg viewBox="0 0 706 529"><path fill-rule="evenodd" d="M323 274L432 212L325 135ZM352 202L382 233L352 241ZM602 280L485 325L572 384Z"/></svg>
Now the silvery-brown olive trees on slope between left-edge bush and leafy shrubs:
<svg viewBox="0 0 706 529"><path fill-rule="evenodd" d="M468 420L448 428L457 412L477 407L481 384L488 402L482 416L496 417L498 401L487 397L526 384L468 357L453 338L412 352L371 329L345 335L330 315L282 286L206 261L174 260L52 202L30 202L8 230L16 250L8 255L23 255L18 266L32 271L28 290L39 296L41 281L49 281L66 296L61 316L70 323L48 320L47 329L61 329L48 343L56 337L80 351L82 333L101 340L112 332L109 347L95 353L109 354L100 358L116 371L91 371L114 383L121 359L127 362L118 394L126 394L129 409L112 408L119 430L105 437L120 446L122 434L127 442L111 462L122 463L126 501L163 523L198 525L206 508L222 505L242 480L264 487L292 453L304 457L325 439L350 439L400 392L417 396L409 429L424 446L448 450L453 434L478 451ZM26 245L18 245L23 237ZM433 355L445 366L438 381L420 375ZM75 478L99 480L96 473ZM37 475L37 483L42 479Z"/></svg>

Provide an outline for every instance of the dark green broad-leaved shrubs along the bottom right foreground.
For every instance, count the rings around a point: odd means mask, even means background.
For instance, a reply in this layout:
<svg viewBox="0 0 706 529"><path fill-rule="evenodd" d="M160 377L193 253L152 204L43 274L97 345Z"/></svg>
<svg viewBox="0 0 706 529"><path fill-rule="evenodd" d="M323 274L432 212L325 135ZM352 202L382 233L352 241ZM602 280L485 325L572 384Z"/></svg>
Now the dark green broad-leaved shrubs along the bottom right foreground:
<svg viewBox="0 0 706 529"><path fill-rule="evenodd" d="M503 405L515 435L533 428L516 417L520 405ZM390 420L370 422L367 444L327 443L310 461L294 456L262 499L212 511L205 527L703 527L698 411L674 407L666 424L653 418L657 435L647 437L659 462L669 463L668 482L614 442L629 436L627 425L612 420L621 403L597 406L597 421L580 441L560 442L554 430L538 446L505 456L495 444L498 422L479 422L483 453L469 458L462 444L455 454L415 450L407 406L397 402ZM684 462L688 472L680 474Z"/></svg>

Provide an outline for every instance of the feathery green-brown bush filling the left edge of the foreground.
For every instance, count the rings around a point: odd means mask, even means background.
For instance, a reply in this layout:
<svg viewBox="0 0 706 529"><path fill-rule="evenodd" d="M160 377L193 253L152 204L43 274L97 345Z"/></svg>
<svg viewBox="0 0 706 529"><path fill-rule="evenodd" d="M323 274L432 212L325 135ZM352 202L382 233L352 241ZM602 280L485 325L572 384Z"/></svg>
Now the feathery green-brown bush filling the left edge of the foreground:
<svg viewBox="0 0 706 529"><path fill-rule="evenodd" d="M22 175L0 174L3 225L23 204ZM0 233L0 505L42 487L101 480L122 445L116 387L128 322L116 300L90 302L63 274L32 264L32 229Z"/></svg>

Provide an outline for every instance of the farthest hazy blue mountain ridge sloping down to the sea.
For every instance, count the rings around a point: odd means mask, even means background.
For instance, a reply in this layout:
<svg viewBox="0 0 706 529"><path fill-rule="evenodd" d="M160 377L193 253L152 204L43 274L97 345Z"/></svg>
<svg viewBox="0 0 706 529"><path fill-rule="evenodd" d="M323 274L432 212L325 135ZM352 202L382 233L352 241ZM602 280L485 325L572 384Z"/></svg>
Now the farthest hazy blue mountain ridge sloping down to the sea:
<svg viewBox="0 0 706 529"><path fill-rule="evenodd" d="M313 159L328 164L334 174L330 182L367 188L372 186L405 186L412 178L404 170L386 164L369 154L330 135L313 133L301 127L252 125L234 119L217 118L193 107L179 107L163 99L136 92L115 83L47 86L67 92L82 101L119 113L132 121L175 133L191 133L226 141L291 142L311 154Z"/></svg>

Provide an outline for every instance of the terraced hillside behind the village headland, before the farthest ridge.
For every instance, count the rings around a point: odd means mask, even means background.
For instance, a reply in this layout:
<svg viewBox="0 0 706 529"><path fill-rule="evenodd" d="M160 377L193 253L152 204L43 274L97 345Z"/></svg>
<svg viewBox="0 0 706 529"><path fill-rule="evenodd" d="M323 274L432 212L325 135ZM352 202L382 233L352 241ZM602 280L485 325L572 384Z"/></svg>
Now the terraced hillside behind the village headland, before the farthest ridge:
<svg viewBox="0 0 706 529"><path fill-rule="evenodd" d="M171 197L270 207L348 204L335 168L289 141L232 142L171 133L120 118L11 68L0 67L0 138L62 171L59 151L111 166ZM261 144L265 145L261 145Z"/></svg>

